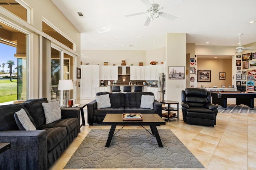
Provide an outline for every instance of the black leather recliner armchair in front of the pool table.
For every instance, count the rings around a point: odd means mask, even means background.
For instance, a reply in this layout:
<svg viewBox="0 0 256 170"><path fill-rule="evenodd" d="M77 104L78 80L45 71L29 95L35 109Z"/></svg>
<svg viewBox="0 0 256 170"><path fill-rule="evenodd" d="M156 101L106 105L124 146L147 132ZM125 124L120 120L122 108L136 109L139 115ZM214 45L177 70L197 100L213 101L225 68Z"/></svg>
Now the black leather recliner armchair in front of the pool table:
<svg viewBox="0 0 256 170"><path fill-rule="evenodd" d="M181 92L183 121L194 125L216 125L218 106L212 104L206 89L186 88Z"/></svg>

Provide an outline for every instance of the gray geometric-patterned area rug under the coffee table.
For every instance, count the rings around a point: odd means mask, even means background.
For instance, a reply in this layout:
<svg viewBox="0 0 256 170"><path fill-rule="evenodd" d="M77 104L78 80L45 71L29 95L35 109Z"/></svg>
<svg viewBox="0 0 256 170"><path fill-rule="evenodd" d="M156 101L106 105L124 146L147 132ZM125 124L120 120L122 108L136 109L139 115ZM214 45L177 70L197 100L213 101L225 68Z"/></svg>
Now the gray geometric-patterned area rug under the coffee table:
<svg viewBox="0 0 256 170"><path fill-rule="evenodd" d="M204 168L168 129L160 129L163 148L144 129L122 129L105 147L106 129L92 129L64 168Z"/></svg>

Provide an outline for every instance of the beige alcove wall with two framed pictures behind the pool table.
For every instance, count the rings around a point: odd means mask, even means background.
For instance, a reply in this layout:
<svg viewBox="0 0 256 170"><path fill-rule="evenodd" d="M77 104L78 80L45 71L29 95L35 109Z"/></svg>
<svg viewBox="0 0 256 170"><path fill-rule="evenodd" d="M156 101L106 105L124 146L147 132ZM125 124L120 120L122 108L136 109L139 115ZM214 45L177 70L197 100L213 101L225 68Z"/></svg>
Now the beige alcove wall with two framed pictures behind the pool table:
<svg viewBox="0 0 256 170"><path fill-rule="evenodd" d="M198 59L197 70L211 70L211 82L197 82L197 87L232 86L232 59ZM226 80L219 79L220 72L226 72Z"/></svg>

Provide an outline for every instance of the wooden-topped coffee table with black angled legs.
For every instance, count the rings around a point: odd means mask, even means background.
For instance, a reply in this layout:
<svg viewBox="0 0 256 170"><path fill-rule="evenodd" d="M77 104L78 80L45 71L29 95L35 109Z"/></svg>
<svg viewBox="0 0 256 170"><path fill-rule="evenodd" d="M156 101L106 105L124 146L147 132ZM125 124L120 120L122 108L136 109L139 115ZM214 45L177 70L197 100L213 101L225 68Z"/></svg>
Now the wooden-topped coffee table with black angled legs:
<svg viewBox="0 0 256 170"><path fill-rule="evenodd" d="M111 125L110 131L108 133L108 140L105 147L109 147L116 125L149 125L152 134L156 137L156 141L159 147L163 147L162 141L160 139L159 133L156 129L157 125L165 125L165 121L158 114L142 114L142 121L123 121L122 113L108 113L106 114L103 124Z"/></svg>

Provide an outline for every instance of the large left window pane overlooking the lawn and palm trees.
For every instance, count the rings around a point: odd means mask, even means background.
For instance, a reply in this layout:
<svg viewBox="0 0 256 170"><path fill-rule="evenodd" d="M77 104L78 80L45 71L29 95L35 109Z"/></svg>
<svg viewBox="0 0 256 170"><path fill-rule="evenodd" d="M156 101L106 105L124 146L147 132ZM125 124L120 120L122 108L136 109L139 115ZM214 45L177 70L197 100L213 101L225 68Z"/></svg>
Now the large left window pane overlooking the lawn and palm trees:
<svg viewBox="0 0 256 170"><path fill-rule="evenodd" d="M0 22L0 103L27 99L28 34ZM4 83L3 83L4 82Z"/></svg>

